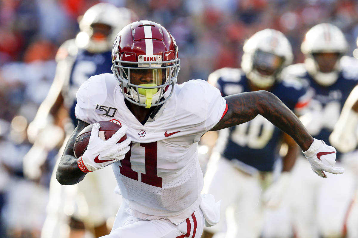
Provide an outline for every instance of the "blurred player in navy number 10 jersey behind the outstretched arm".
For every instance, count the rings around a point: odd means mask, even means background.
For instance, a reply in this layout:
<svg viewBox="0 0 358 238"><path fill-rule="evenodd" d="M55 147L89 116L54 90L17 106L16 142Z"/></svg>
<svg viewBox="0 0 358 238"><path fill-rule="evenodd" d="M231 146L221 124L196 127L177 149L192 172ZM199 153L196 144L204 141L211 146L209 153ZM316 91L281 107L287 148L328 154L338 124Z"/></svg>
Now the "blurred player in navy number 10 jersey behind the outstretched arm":
<svg viewBox="0 0 358 238"><path fill-rule="evenodd" d="M309 92L296 80L280 80L281 70L290 65L292 59L291 45L284 34L265 29L256 32L243 46L242 69L219 69L209 75L208 82L223 96L269 91L299 114L310 100ZM288 150L282 160L282 173L273 183L272 172L275 165L280 164L277 162L281 159L282 143L288 145ZM279 207L290 183L289 171L297 151L295 141L261 115L220 130L205 173L203 192L222 200L221 221L205 228L205 237L227 229L226 237L260 237L265 205ZM226 221L229 222L227 228Z"/></svg>

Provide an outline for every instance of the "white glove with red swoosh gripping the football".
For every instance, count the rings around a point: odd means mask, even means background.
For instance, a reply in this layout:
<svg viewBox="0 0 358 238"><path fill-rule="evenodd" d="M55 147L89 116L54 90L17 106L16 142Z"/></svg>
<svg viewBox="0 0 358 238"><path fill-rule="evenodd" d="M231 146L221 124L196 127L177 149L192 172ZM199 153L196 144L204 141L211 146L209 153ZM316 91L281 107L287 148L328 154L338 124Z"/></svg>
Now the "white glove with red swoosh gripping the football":
<svg viewBox="0 0 358 238"><path fill-rule="evenodd" d="M77 164L82 172L88 173L102 169L118 160L124 159L125 154L130 150L128 146L131 139L127 138L121 143L117 143L127 131L127 126L123 125L116 133L106 141L98 137L100 123L94 123L89 137L87 150L78 158Z"/></svg>

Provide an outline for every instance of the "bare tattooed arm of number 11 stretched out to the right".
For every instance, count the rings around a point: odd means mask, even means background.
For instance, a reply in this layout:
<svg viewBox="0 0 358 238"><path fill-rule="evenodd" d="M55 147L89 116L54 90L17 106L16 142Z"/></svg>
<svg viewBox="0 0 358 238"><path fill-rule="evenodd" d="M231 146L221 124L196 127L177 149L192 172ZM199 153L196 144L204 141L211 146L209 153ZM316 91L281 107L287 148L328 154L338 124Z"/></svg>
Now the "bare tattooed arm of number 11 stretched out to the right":
<svg viewBox="0 0 358 238"><path fill-rule="evenodd" d="M236 126L255 118L265 117L280 130L290 135L303 151L313 142L306 128L274 94L267 91L245 92L226 96L228 111L211 131Z"/></svg>

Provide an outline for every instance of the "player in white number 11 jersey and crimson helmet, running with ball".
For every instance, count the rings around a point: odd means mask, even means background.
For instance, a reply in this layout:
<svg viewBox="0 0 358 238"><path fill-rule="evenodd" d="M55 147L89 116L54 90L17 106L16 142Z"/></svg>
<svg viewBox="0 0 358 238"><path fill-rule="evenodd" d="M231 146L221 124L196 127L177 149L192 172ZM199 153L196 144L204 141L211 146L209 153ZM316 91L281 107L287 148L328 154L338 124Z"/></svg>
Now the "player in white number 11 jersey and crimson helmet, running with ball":
<svg viewBox="0 0 358 238"><path fill-rule="evenodd" d="M142 20L125 26L114 41L112 61L113 74L92 76L77 92L78 125L56 174L61 184L75 184L86 172L96 173L111 164L118 183L116 191L124 202L111 233L104 238L200 237L204 224L212 226L219 220L219 203L210 194L200 195L200 137L259 114L297 142L316 173L324 176L344 171L334 167L335 149L311 137L272 93L222 97L217 88L203 80L176 84L178 46L158 23ZM111 118L99 115L97 104L117 111ZM122 128L112 140L102 141L95 122L105 120L116 120ZM95 124L88 148L77 159L73 155L74 140L91 123ZM128 138L116 143L124 133ZM319 152L331 153L318 159ZM83 163L82 170L78 160Z"/></svg>

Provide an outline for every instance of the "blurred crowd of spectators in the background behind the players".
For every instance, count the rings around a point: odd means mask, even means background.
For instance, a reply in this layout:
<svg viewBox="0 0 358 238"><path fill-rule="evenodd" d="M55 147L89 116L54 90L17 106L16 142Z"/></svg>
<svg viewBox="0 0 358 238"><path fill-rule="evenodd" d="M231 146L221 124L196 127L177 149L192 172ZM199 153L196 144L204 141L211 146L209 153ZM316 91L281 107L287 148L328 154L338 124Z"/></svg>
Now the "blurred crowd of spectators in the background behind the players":
<svg viewBox="0 0 358 238"><path fill-rule="evenodd" d="M0 237L37 238L45 219L49 178L57 150L43 175L30 181L22 161L31 147L26 136L53 81L58 47L79 31L78 17L99 1L2 0L0 2ZM292 44L294 63L303 62L300 44L312 26L330 22L349 43L358 36L356 0L111 0L141 20L160 23L176 39L179 82L207 80L222 67L240 67L242 46L253 33L273 28ZM35 196L29 196L32 194ZM26 211L26 212L24 212ZM16 227L18 216L26 219Z"/></svg>

